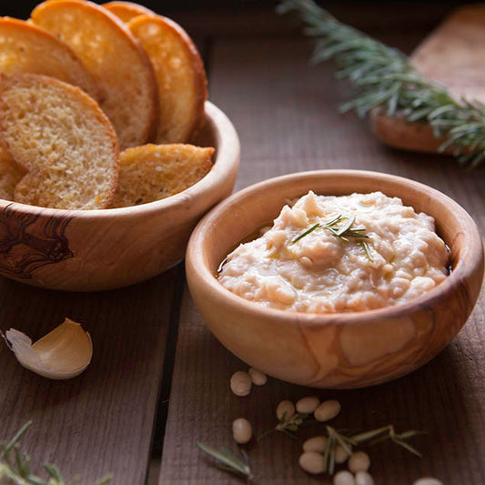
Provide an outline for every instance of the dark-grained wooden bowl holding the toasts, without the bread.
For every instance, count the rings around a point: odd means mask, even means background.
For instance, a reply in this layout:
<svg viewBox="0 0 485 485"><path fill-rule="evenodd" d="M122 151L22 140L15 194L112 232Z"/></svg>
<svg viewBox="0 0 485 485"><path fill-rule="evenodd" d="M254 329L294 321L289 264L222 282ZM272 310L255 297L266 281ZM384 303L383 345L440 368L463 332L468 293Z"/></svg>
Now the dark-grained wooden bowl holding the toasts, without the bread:
<svg viewBox="0 0 485 485"><path fill-rule="evenodd" d="M209 102L194 143L216 148L214 167L157 202L61 210L0 199L0 274L36 287L90 291L131 285L175 265L200 217L231 193L237 177L236 130Z"/></svg>

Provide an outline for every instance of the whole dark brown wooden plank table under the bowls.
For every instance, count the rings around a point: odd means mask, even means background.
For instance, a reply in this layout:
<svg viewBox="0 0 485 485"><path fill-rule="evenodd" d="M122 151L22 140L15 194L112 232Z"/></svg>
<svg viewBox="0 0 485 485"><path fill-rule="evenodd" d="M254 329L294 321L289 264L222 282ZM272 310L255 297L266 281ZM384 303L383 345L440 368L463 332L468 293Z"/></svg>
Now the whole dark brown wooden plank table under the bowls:
<svg viewBox="0 0 485 485"><path fill-rule="evenodd" d="M356 3L357 4L357 3ZM346 4L342 20L399 46L419 43L450 10ZM308 66L311 44L292 18L271 10L200 10L171 15L195 36L206 59L210 99L237 127L242 160L237 189L289 172L317 168L371 169L410 177L448 194L485 230L485 169L467 172L447 157L415 155L379 145L365 122L339 116L347 87L331 66ZM35 464L55 461L67 478L90 483L108 471L116 485L239 483L197 450L197 442L231 446L239 416L257 434L274 426L281 399L317 394L339 399L336 428L428 432L414 440L422 460L395 446L370 451L382 485L410 485L423 475L447 485L485 483L485 301L482 292L466 327L423 369L370 389L305 389L269 379L248 398L228 390L228 379L247 366L205 328L185 286L182 265L131 288L104 293L61 293L0 278L0 328L39 338L69 317L92 335L94 359L86 373L50 381L21 368L0 348L0 437L27 419L34 424L25 450ZM298 440L281 433L248 447L259 484L328 483L298 467ZM148 466L150 464L150 466Z"/></svg>

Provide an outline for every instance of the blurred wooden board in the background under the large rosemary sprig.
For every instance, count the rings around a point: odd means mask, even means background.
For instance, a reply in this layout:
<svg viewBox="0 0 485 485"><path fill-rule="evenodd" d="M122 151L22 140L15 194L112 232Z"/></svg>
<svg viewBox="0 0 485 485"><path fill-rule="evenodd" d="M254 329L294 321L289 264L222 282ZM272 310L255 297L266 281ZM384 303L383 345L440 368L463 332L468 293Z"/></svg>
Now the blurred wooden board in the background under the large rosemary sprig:
<svg viewBox="0 0 485 485"><path fill-rule="evenodd" d="M428 79L439 81L457 97L485 101L485 4L453 12L415 49L412 63ZM389 147L438 152L444 139L423 123L407 123L375 109L371 129ZM447 153L452 153L449 149Z"/></svg>

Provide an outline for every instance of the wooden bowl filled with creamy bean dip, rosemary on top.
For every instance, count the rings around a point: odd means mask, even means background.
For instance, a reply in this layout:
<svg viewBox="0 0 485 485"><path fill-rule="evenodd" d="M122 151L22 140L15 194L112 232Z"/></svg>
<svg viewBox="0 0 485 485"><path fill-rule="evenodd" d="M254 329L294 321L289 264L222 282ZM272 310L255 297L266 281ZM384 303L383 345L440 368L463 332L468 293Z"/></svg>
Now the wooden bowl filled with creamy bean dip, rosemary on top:
<svg viewBox="0 0 485 485"><path fill-rule="evenodd" d="M356 170L277 177L214 208L187 248L208 328L278 379L357 388L432 359L480 293L468 213L418 182Z"/></svg>

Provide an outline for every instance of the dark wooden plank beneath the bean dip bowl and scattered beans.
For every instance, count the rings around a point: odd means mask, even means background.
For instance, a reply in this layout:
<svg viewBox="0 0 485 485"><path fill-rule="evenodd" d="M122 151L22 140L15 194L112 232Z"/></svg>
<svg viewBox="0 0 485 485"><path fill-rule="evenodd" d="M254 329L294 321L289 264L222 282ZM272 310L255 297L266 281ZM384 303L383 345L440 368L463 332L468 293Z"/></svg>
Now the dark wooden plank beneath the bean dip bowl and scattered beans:
<svg viewBox="0 0 485 485"><path fill-rule="evenodd" d="M414 31L411 31L414 32ZM381 35L409 50L422 33ZM243 158L237 188L285 173L318 168L359 168L419 180L456 199L485 233L485 171L467 172L450 158L416 155L382 147L355 116L339 116L346 86L330 66L308 67L310 46L295 39L219 39L211 62L211 97L232 119ZM274 426L281 399L317 393L335 398L343 413L336 428L421 429L415 440L419 460L389 444L370 450L376 483L409 485L423 475L446 484L485 482L485 295L460 336L437 359L413 374L369 389L305 389L270 379L248 398L237 398L228 379L244 363L213 338L186 294L180 318L175 371L170 394L160 485L240 483L217 470L197 450L197 442L232 443L230 424L243 416L257 435ZM256 482L265 485L329 483L298 467L302 441L318 434L305 429L292 441L278 434L248 446Z"/></svg>

